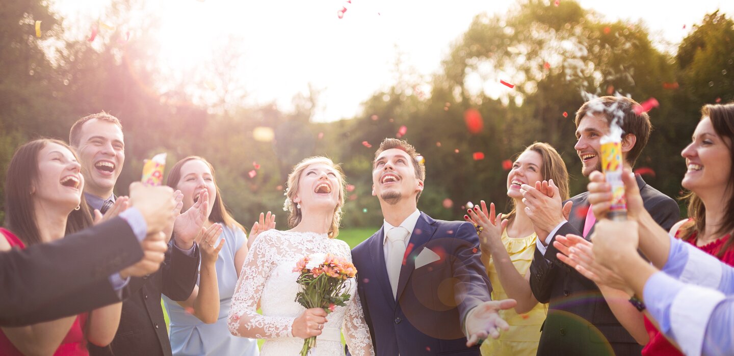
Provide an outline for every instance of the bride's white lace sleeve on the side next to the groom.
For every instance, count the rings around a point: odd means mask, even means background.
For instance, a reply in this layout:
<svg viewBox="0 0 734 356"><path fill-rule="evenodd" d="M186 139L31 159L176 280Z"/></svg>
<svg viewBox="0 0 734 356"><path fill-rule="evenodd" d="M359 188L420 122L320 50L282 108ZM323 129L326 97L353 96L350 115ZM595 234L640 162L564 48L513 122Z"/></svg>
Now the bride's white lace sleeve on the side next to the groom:
<svg viewBox="0 0 734 356"><path fill-rule="evenodd" d="M344 242L344 246L341 248L344 250L342 253L352 262L352 252L349 250L349 245ZM364 311L362 310L362 302L360 302L360 295L357 293L357 280L352 280L355 283L355 287L352 288L354 291L353 295L346 302L346 315L344 316L344 341L346 346L349 347L349 352L354 356L374 356L374 347L372 347L372 338L369 333L369 326L365 320Z"/></svg>

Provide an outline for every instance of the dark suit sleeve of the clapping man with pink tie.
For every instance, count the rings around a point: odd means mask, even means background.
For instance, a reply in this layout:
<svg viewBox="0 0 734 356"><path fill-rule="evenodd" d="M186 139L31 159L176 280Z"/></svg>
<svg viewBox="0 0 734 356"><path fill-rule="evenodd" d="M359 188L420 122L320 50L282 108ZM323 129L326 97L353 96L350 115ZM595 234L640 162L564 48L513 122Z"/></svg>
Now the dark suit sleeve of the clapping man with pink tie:
<svg viewBox="0 0 734 356"><path fill-rule="evenodd" d="M566 235L568 233L581 236L581 233L568 222L561 225L556 235ZM538 299L538 302L541 303L551 301L551 288L556 283L559 268L563 266L563 262L556 257L558 249L553 247L553 241L556 241L556 236L551 238L551 243L548 244L545 255L540 253L536 247L533 261L530 264L530 290L533 291L535 299Z"/></svg>

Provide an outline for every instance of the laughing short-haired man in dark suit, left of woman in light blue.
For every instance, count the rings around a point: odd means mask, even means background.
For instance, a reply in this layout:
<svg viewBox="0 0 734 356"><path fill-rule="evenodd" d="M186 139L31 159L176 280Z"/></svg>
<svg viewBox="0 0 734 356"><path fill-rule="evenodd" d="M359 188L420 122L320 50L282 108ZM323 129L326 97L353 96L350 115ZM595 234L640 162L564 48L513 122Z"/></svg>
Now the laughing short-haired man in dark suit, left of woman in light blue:
<svg viewBox="0 0 734 356"><path fill-rule="evenodd" d="M81 172L87 184L84 197L102 214L115 202L113 189L125 162L122 126L117 117L101 112L77 120L69 143L79 153ZM194 229L196 230L196 229ZM161 293L172 300L186 300L197 280L199 251L191 229L172 239L161 269L142 278L131 278L131 296L123 302L120 327L107 347L90 345L90 355L170 356Z"/></svg>

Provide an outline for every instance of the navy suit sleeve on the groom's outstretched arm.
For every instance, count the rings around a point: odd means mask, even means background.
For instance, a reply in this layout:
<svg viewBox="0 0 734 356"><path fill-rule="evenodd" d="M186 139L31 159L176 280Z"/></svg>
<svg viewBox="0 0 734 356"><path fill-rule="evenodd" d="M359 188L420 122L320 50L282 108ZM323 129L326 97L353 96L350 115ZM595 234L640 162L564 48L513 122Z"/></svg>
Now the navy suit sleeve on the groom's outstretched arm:
<svg viewBox="0 0 734 356"><path fill-rule="evenodd" d="M492 299L492 284L482 264L476 229L470 223L462 222L454 241L454 261L451 267L454 277L459 280L457 290L464 291L462 295L456 296L457 301L460 301L458 308L463 325L469 310Z"/></svg>

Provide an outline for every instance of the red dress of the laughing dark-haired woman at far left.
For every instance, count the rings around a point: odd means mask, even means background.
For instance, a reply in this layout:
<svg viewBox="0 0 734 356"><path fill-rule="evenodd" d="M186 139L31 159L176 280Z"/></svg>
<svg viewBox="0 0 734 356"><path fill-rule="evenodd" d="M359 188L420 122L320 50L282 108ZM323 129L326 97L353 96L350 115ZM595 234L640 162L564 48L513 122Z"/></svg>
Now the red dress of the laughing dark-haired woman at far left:
<svg viewBox="0 0 734 356"><path fill-rule="evenodd" d="M26 248L21 239L15 236L8 230L0 228L0 233L10 243L11 247L20 247L21 249ZM54 356L89 356L87 351L87 339L84 338L84 326L87 324L88 313L82 313L76 316L74 324L71 325L69 333L61 341L61 345L54 352ZM23 356L10 340L5 336L5 333L0 330L0 355L3 356Z"/></svg>

